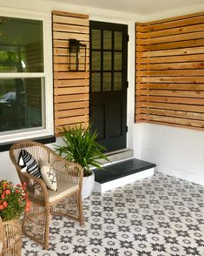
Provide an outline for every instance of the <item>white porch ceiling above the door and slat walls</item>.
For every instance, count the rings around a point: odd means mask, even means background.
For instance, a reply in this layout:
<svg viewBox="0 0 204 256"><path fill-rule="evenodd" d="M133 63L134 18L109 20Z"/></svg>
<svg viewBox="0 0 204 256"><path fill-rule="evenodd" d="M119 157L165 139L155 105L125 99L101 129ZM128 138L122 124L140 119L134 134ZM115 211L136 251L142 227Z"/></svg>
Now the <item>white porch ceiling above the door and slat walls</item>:
<svg viewBox="0 0 204 256"><path fill-rule="evenodd" d="M203 0L57 0L57 2L137 15L154 15L169 10L195 7L204 3Z"/></svg>

